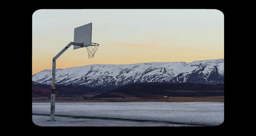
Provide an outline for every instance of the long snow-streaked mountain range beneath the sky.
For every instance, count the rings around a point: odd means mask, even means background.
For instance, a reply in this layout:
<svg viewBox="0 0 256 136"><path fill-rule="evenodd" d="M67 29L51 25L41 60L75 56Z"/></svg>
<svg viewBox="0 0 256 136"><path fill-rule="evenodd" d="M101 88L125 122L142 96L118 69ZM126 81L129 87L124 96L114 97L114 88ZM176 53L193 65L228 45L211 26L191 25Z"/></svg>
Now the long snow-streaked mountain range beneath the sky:
<svg viewBox="0 0 256 136"><path fill-rule="evenodd" d="M32 80L51 85L52 70L32 75ZM56 84L119 87L135 82L223 83L224 59L204 61L92 64L56 70Z"/></svg>

